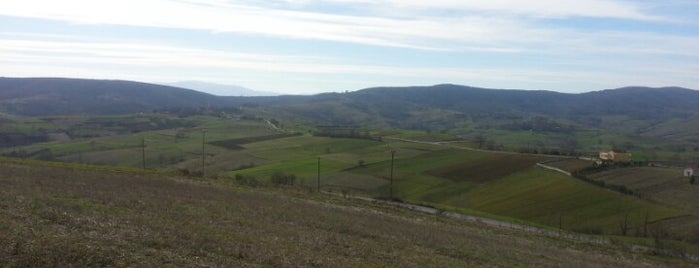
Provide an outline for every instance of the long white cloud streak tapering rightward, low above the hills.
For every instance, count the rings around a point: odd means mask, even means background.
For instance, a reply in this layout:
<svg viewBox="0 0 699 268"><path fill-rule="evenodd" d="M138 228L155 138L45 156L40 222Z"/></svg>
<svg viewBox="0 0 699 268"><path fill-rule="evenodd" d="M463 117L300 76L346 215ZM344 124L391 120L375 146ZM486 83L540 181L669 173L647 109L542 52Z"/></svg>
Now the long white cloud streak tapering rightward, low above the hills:
<svg viewBox="0 0 699 268"><path fill-rule="evenodd" d="M65 39L67 36L61 36ZM357 77L378 77L385 84L391 78L422 77L426 81L507 80L512 83L535 82L555 76L539 70L484 69L466 67L416 67L377 64L347 64L341 59L288 56L274 54L244 54L217 50L153 46L134 43L103 43L72 41L40 41L25 39L0 40L0 58L7 68L3 75L68 76L92 78L139 79L144 81L176 81L187 77L206 76L221 80L238 72L263 72L267 76L318 77L342 75L349 83ZM109 70L101 68L109 66ZM188 70L196 70L194 72ZM34 73L34 75L32 75ZM150 77L146 79L146 77ZM233 76L234 78L239 76ZM517 82L515 82L517 81ZM263 81L249 81L263 84ZM365 86L371 86L367 84ZM298 86L296 90L302 89ZM356 89L356 88L349 88ZM287 88L288 90L288 88ZM308 90L308 89L306 89Z"/></svg>

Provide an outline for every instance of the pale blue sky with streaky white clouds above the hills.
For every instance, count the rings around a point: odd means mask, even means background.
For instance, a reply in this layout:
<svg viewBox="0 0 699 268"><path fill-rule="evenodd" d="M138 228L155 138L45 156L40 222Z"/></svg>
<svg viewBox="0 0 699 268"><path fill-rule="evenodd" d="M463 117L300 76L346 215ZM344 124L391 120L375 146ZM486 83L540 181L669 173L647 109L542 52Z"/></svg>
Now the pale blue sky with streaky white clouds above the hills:
<svg viewBox="0 0 699 268"><path fill-rule="evenodd" d="M697 0L0 0L0 76L699 89Z"/></svg>

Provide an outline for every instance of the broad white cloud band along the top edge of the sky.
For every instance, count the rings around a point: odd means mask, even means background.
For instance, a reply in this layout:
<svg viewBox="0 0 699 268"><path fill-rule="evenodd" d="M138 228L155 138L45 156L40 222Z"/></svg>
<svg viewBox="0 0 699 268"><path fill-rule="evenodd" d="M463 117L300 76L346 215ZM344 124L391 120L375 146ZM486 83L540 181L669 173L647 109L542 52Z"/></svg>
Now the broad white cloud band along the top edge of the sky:
<svg viewBox="0 0 699 268"><path fill-rule="evenodd" d="M3 1L0 1L2 4ZM6 2L6 1L5 1ZM526 42L548 37L527 19L532 17L611 17L653 19L638 5L609 0L328 0L328 1L223 0L23 0L5 3L0 15L64 20L74 23L115 24L196 29L214 32L258 34L286 38L328 40L375 46L423 50L459 50L492 47L514 51L507 42ZM412 10L411 17L392 17L394 12L343 15L317 11L270 8L279 4L307 6L318 3ZM448 9L466 12L456 16L430 16L425 11ZM366 10L365 10L366 11ZM483 13L485 12L485 13ZM424 13L424 14L423 14Z"/></svg>

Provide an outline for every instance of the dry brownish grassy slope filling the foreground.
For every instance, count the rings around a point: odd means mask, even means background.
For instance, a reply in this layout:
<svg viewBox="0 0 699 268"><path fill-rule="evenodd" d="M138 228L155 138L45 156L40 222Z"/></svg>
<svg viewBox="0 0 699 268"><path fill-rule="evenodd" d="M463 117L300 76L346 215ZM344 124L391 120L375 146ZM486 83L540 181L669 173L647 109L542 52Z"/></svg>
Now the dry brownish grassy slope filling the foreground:
<svg viewBox="0 0 699 268"><path fill-rule="evenodd" d="M691 266L293 190L0 161L15 266Z"/></svg>

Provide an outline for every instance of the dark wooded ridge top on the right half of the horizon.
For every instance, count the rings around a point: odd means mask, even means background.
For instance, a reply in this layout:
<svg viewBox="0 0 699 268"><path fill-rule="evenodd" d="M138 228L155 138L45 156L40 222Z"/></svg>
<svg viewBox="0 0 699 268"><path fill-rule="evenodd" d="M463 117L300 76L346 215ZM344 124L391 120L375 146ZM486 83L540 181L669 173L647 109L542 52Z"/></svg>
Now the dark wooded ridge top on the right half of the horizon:
<svg viewBox="0 0 699 268"><path fill-rule="evenodd" d="M628 87L565 94L552 91L435 85L369 88L346 94L320 94L310 96L302 103L332 103L335 109L361 110L372 116L390 119L392 124L397 126L401 126L402 122L409 122L413 117L435 111L449 111L453 116L470 118L548 116L585 122L585 118L589 117L621 115L634 119L662 120L696 114L699 111L696 109L699 107L699 91L677 87ZM291 111L298 106L298 103L287 104ZM318 110L325 108L319 107ZM329 120L320 117L327 114L317 116L319 121Z"/></svg>

